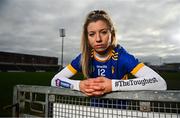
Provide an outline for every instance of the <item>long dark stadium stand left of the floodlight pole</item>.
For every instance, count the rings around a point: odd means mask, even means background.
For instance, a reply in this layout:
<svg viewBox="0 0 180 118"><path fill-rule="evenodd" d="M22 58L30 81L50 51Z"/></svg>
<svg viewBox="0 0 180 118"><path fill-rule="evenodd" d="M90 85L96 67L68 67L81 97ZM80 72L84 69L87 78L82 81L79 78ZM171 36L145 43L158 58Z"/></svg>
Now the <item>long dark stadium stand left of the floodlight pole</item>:
<svg viewBox="0 0 180 118"><path fill-rule="evenodd" d="M0 71L57 71L57 57L0 52Z"/></svg>

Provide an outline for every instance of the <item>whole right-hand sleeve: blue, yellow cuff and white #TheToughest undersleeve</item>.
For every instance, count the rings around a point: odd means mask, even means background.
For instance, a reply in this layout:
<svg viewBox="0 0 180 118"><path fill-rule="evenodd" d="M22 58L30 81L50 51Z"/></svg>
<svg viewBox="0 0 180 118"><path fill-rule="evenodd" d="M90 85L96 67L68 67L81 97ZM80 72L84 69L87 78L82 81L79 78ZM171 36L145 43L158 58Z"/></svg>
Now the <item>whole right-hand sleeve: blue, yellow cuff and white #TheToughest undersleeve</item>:
<svg viewBox="0 0 180 118"><path fill-rule="evenodd" d="M136 78L129 80L112 80L112 91L118 90L166 90L165 80L154 70L140 63L133 55L123 48L119 51L121 71L132 73Z"/></svg>

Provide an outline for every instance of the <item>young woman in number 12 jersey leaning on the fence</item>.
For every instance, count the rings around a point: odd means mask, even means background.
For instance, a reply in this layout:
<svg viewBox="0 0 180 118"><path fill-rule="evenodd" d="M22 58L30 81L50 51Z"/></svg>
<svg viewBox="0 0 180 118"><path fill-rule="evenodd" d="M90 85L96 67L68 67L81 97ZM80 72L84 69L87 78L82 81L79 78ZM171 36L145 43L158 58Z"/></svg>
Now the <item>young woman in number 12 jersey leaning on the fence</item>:
<svg viewBox="0 0 180 118"><path fill-rule="evenodd" d="M82 72L85 79L69 79L77 72ZM128 80L128 73L136 78ZM51 85L78 90L88 96L123 90L167 89L166 82L159 74L116 44L115 28L103 10L91 11L87 15L81 53L54 76Z"/></svg>

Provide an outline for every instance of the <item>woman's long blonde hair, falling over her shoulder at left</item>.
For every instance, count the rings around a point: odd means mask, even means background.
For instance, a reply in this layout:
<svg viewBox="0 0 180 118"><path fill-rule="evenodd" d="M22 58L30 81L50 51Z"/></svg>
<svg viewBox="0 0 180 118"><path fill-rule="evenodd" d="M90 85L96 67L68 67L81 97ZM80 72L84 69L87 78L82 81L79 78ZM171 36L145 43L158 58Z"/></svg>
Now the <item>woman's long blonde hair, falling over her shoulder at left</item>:
<svg viewBox="0 0 180 118"><path fill-rule="evenodd" d="M115 29L109 15L104 10L91 11L86 17L81 37L81 66L85 78L88 78L89 74L92 72L92 65L90 60L92 49L88 43L87 27L89 23L96 22L98 20L103 20L107 23L111 32L111 46L113 48L116 46Z"/></svg>

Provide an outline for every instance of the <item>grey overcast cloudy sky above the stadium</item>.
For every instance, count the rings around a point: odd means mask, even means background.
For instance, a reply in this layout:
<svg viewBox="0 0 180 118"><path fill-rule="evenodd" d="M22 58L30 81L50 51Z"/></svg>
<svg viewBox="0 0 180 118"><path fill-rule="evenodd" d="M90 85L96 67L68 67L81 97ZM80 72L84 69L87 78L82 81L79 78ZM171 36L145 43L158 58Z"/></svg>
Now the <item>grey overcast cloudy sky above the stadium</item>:
<svg viewBox="0 0 180 118"><path fill-rule="evenodd" d="M118 43L142 62L180 63L180 0L0 0L0 51L61 57L80 53L86 15L109 13Z"/></svg>

